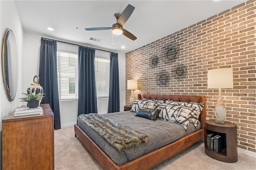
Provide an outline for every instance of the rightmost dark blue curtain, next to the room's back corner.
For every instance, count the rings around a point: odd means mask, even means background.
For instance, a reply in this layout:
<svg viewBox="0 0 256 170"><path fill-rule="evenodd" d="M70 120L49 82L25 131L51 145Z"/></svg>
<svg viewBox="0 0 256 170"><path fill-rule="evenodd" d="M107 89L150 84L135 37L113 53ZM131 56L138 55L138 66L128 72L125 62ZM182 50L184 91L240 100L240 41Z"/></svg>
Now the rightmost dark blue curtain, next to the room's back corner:
<svg viewBox="0 0 256 170"><path fill-rule="evenodd" d="M110 54L108 113L120 111L118 53Z"/></svg>

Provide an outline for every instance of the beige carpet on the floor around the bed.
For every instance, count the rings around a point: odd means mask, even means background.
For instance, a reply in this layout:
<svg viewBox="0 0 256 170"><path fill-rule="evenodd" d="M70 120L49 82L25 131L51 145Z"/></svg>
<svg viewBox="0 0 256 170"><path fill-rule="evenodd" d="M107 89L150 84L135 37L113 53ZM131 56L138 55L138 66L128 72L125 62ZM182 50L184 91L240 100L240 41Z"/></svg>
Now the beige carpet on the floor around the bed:
<svg viewBox="0 0 256 170"><path fill-rule="evenodd" d="M74 136L74 127L54 131L56 170L102 170L82 142ZM256 170L256 158L238 153L238 162L225 163L204 153L199 142L153 168L154 170Z"/></svg>

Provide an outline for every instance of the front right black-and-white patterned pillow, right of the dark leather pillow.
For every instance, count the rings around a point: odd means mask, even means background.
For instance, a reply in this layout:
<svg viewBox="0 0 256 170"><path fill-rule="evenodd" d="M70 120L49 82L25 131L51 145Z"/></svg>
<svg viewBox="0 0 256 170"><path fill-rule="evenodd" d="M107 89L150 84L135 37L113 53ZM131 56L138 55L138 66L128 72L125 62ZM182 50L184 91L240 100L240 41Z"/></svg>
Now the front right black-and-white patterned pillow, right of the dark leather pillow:
<svg viewBox="0 0 256 170"><path fill-rule="evenodd" d="M185 130L188 129L189 120L193 113L191 107L161 104L157 109L161 109L158 115L161 119L178 123L184 127Z"/></svg>

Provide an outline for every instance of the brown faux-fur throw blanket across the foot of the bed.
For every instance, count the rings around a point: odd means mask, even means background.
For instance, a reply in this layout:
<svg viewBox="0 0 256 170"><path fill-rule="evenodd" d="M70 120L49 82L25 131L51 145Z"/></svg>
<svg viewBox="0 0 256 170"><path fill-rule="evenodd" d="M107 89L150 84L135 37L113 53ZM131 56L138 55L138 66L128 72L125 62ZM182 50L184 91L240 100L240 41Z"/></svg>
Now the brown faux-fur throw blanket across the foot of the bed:
<svg viewBox="0 0 256 170"><path fill-rule="evenodd" d="M80 115L80 118L119 152L131 146L138 146L149 139L146 134L124 127L96 113L83 114Z"/></svg>

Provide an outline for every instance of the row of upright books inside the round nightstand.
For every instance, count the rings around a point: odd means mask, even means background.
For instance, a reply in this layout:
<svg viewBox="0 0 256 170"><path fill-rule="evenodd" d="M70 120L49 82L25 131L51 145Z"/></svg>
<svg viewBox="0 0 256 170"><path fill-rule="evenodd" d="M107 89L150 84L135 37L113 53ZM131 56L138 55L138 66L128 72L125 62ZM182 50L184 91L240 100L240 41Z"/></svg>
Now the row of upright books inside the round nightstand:
<svg viewBox="0 0 256 170"><path fill-rule="evenodd" d="M222 150L222 137L219 134L207 134L207 149L221 152Z"/></svg>

